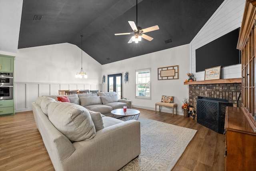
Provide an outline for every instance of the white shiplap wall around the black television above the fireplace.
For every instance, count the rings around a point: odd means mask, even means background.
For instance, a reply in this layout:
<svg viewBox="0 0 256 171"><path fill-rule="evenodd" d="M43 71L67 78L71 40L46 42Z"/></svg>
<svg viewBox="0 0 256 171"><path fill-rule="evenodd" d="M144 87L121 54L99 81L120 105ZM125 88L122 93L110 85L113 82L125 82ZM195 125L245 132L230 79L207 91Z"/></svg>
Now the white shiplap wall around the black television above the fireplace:
<svg viewBox="0 0 256 171"><path fill-rule="evenodd" d="M190 70L197 81L204 80L204 72L196 73L196 49L220 38L221 36L241 27L244 13L244 0L224 0L204 27L190 43ZM221 79L241 78L241 64L223 67Z"/></svg>

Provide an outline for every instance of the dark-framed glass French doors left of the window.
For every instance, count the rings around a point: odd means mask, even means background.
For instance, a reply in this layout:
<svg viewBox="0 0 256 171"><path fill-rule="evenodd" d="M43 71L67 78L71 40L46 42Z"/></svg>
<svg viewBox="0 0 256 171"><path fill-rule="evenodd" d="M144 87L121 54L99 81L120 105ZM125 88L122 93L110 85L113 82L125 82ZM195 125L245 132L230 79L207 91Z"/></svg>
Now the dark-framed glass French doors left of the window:
<svg viewBox="0 0 256 171"><path fill-rule="evenodd" d="M118 99L122 96L122 74L108 75L108 92L116 91Z"/></svg>

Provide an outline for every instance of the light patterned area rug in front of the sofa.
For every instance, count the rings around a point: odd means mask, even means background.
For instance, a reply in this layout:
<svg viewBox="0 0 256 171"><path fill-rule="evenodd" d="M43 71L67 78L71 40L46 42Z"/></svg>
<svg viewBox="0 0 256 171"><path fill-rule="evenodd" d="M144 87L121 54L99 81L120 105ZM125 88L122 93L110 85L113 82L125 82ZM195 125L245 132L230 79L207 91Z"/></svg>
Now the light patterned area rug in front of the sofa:
<svg viewBox="0 0 256 171"><path fill-rule="evenodd" d="M141 153L120 171L171 171L196 130L140 118Z"/></svg>

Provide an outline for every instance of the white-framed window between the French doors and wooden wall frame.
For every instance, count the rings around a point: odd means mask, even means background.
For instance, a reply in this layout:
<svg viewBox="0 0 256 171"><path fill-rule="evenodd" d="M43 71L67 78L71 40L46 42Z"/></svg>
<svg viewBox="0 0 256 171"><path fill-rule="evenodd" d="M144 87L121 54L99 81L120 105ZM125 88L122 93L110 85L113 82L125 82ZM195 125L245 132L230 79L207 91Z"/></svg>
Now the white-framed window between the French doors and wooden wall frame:
<svg viewBox="0 0 256 171"><path fill-rule="evenodd" d="M151 69L136 70L136 98L151 99L151 83L150 71Z"/></svg>

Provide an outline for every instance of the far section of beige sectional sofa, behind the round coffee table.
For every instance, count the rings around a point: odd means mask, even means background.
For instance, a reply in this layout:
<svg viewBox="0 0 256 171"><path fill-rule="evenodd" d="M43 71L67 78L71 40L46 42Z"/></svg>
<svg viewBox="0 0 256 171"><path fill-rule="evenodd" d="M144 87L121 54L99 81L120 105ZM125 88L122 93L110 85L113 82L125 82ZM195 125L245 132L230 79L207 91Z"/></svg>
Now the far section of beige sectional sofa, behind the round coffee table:
<svg viewBox="0 0 256 171"><path fill-rule="evenodd" d="M45 95L53 99L57 99L58 96L62 95ZM111 111L114 109L120 109L124 106L132 108L132 101L126 99L118 99L116 92L98 92L92 94L74 94L66 95L70 103L82 105L86 109L92 111L98 111L105 116L111 116Z"/></svg>

